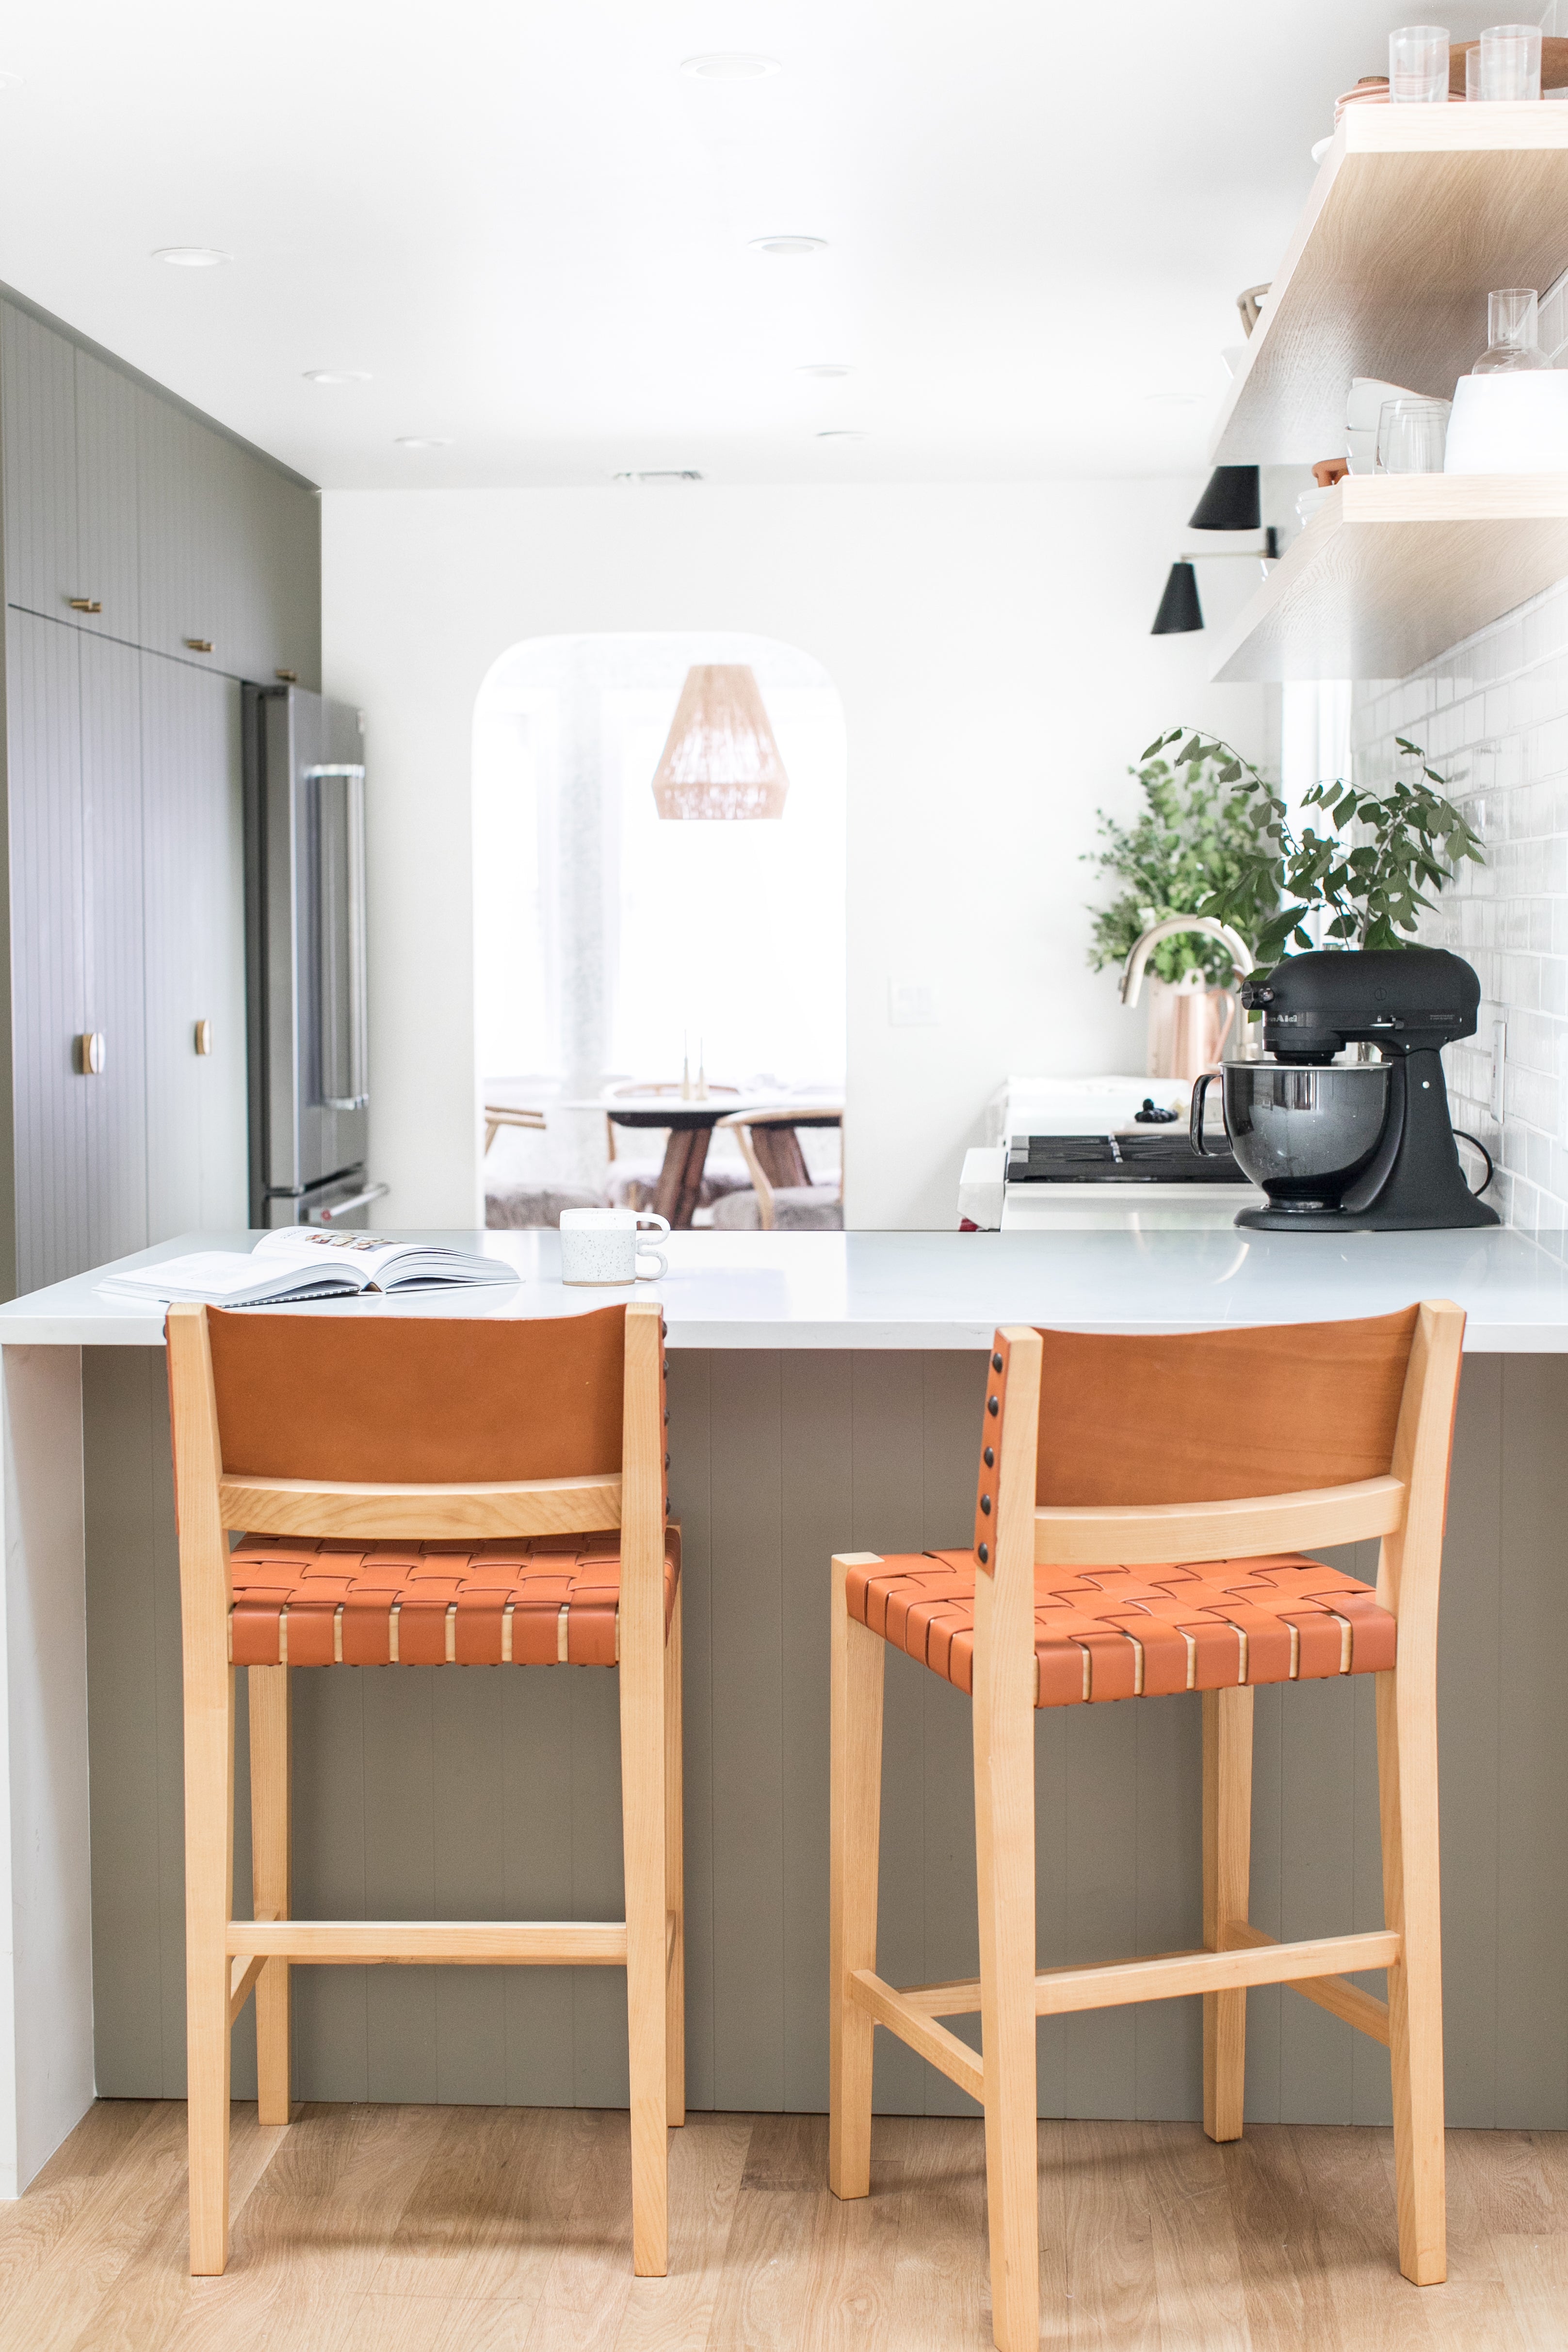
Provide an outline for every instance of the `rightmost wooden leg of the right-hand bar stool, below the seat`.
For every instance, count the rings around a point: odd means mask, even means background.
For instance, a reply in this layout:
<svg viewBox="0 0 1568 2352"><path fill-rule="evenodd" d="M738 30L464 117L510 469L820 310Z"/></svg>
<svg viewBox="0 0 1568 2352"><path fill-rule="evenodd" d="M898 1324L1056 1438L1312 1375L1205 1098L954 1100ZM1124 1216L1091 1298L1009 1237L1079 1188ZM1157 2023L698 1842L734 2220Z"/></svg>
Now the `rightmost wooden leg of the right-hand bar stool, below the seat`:
<svg viewBox="0 0 1568 2352"><path fill-rule="evenodd" d="M1382 1917L1403 1936L1389 1969L1399 2267L1415 2286L1448 2277L1434 1679L1403 1653L1378 1675Z"/></svg>

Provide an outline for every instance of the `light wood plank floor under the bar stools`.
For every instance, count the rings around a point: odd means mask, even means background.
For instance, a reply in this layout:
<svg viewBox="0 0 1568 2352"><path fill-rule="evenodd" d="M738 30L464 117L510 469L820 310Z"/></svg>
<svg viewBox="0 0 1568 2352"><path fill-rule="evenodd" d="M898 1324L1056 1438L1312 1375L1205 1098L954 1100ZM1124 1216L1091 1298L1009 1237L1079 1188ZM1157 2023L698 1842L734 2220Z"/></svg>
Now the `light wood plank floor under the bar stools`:
<svg viewBox="0 0 1568 2352"><path fill-rule="evenodd" d="M228 2277L186 2277L186 2110L103 2100L0 2206L2 2352L936 2352L990 2345L980 2126L879 2122L860 2204L823 2117L672 2133L668 2279L630 2277L625 2114L235 2107ZM1450 2284L1394 2270L1382 2131L1041 2124L1041 2343L1561 2352L1568 2133L1450 2133Z"/></svg>

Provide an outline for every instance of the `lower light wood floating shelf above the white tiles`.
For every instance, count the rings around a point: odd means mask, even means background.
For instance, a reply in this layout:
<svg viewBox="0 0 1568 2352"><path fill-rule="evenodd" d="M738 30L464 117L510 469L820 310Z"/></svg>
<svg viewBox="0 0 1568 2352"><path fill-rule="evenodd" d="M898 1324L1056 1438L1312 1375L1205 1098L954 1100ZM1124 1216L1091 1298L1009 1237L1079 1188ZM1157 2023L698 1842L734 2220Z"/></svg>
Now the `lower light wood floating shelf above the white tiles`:
<svg viewBox="0 0 1568 2352"><path fill-rule="evenodd" d="M1213 677L1408 677L1563 576L1568 473L1349 475L1227 630Z"/></svg>

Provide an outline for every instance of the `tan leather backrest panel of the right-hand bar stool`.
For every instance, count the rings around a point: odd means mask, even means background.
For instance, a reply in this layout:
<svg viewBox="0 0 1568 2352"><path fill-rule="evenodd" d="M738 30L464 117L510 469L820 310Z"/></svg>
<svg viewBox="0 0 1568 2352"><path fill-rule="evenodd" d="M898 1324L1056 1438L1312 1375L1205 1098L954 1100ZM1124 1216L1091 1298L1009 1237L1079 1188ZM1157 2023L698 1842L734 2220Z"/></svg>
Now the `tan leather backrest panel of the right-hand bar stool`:
<svg viewBox="0 0 1568 2352"><path fill-rule="evenodd" d="M1220 1503L1382 1477L1415 1315L1168 1338L1041 1331L1034 1501Z"/></svg>

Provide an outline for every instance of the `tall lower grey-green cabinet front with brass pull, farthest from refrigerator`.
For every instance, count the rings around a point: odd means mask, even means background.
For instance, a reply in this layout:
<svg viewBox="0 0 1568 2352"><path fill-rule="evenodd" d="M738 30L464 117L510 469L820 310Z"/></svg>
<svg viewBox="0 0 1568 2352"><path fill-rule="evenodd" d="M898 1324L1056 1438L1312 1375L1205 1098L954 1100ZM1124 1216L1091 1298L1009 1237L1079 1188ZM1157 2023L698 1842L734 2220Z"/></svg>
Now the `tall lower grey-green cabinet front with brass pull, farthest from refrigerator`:
<svg viewBox="0 0 1568 2352"><path fill-rule="evenodd" d="M136 654L7 614L16 1279L146 1247ZM80 1040L101 1037L92 1075Z"/></svg>

